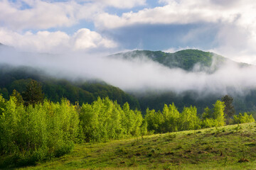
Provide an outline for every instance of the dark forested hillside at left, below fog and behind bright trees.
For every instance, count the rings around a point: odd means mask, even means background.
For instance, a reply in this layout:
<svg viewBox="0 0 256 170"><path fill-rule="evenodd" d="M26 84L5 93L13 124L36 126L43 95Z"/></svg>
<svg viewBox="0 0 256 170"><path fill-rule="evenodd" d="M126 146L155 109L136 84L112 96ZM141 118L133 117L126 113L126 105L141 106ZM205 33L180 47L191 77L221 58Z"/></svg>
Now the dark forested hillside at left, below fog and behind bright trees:
<svg viewBox="0 0 256 170"><path fill-rule="evenodd" d="M14 89L22 94L32 79L41 83L43 93L50 101L57 102L62 98L68 98L72 103L78 101L82 104L92 103L99 96L108 96L121 105L128 102L131 108L139 108L136 98L103 81L68 81L50 77L41 69L0 64L0 94L3 94L4 98L9 98Z"/></svg>

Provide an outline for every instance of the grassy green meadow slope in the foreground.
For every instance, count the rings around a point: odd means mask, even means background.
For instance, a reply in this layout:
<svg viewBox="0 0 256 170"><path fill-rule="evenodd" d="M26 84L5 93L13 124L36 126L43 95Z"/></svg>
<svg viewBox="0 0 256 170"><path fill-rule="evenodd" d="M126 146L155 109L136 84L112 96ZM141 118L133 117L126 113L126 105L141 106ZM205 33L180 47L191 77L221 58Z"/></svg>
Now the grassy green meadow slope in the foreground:
<svg viewBox="0 0 256 170"><path fill-rule="evenodd" d="M246 123L86 143L63 157L21 169L254 169L255 132L255 123Z"/></svg>

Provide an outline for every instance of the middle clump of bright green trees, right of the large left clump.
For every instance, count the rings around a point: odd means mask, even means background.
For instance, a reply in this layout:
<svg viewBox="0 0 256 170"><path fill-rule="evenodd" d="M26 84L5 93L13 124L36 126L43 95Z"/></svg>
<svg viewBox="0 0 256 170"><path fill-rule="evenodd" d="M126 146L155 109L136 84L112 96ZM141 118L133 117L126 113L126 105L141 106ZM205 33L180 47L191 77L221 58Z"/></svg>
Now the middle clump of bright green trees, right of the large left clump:
<svg viewBox="0 0 256 170"><path fill-rule="evenodd" d="M132 111L128 103L121 108L109 98L98 98L83 104L80 110L80 127L86 142L106 141L145 135L146 126L140 111Z"/></svg>

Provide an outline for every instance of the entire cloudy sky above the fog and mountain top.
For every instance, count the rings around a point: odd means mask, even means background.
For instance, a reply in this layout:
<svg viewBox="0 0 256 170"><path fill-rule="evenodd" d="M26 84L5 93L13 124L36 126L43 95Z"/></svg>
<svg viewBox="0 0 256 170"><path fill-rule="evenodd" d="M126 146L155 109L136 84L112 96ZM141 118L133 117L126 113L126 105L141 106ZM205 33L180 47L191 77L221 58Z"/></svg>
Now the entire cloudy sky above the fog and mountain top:
<svg viewBox="0 0 256 170"><path fill-rule="evenodd" d="M256 64L256 1L0 0L0 42L53 54L193 48Z"/></svg>

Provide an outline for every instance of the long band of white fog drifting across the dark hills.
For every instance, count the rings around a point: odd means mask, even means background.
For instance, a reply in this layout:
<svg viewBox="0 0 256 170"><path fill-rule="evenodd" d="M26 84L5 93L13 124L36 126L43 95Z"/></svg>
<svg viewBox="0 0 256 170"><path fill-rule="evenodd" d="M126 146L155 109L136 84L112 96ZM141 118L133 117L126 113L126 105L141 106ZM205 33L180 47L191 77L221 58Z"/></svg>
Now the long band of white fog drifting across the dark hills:
<svg viewBox="0 0 256 170"><path fill-rule="evenodd" d="M98 79L124 91L135 91L138 94L152 89L175 91L178 94L196 91L202 96L224 95L230 93L231 89L236 94L244 94L256 87L254 66L240 67L235 62L227 62L209 74L200 64L196 64L192 72L186 72L183 69L164 67L145 56L124 59L107 55L36 54L1 47L0 63L36 67L53 77L73 81Z"/></svg>

